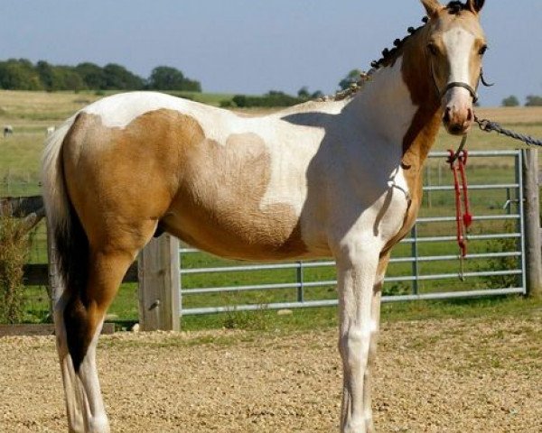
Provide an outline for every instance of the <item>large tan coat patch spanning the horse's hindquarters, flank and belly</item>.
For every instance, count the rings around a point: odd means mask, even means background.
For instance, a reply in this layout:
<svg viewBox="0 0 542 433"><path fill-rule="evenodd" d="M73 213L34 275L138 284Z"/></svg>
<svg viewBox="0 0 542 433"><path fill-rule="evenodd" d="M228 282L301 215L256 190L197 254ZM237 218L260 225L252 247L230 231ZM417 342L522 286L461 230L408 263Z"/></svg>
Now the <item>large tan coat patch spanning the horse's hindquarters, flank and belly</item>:
<svg viewBox="0 0 542 433"><path fill-rule="evenodd" d="M91 244L135 252L161 220L189 244L228 257L306 253L294 209L260 205L271 169L257 134L232 134L216 143L194 118L167 109L141 115L123 129L82 114L65 143L64 162L70 198Z"/></svg>

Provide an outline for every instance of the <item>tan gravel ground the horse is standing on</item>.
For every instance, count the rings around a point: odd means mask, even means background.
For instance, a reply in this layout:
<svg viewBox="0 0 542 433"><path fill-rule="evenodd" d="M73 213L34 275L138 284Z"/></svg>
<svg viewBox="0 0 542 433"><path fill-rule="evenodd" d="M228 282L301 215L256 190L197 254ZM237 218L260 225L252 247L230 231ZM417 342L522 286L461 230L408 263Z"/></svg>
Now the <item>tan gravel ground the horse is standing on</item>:
<svg viewBox="0 0 542 433"><path fill-rule="evenodd" d="M385 324L379 432L542 432L541 317ZM333 330L102 336L113 432L333 432ZM0 338L0 432L67 431L52 337Z"/></svg>

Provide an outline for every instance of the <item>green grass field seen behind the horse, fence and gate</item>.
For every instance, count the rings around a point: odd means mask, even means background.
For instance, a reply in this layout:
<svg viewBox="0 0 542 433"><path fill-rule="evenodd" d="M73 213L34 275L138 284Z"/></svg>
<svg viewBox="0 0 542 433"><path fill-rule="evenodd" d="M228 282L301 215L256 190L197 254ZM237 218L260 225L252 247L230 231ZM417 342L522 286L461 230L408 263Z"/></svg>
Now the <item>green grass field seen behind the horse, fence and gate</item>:
<svg viewBox="0 0 542 433"><path fill-rule="evenodd" d="M73 112L97 100L99 97L93 93L73 94L61 93L36 93L36 92L14 92L0 91L0 124L12 124L14 135L8 138L0 138L0 197L12 195L33 195L39 193L39 165L42 152L42 143L45 139L46 128L50 125L58 125L69 117ZM219 105L220 100L228 99L231 95L209 95L194 94L189 97L201 102ZM256 111L258 114L265 114L268 110ZM490 118L501 124L518 129L520 132L542 136L542 107L535 108L480 108L478 115L481 118ZM444 132L441 132L435 145L436 151L444 151L448 148L455 148L458 140ZM469 139L471 150L507 150L520 148L521 143L499 137L496 134L486 134L475 129ZM542 152L540 152L542 158ZM470 162L469 180L471 184L480 183L503 183L513 182L515 178L512 158L476 159ZM450 185L451 175L444 159L428 161L425 172L425 182L433 185ZM502 213L502 206L507 200L506 191L473 191L472 212L474 215L494 215ZM453 215L453 197L450 192L432 192L425 195L424 206L421 210L421 217L440 217ZM473 226L473 233L495 233L496 231L511 231L514 226L504 226L501 222L483 222ZM453 224L439 224L432 226L420 226L418 235L452 235ZM487 251L499 251L503 248L514 248L512 244L505 243L472 243L472 253ZM410 253L409 245L400 245L394 256L400 257ZM420 246L420 255L454 254L457 253L457 246L448 244L423 244ZM35 235L35 242L32 253L34 263L43 263L46 260L44 249L43 228ZM229 262L220 261L207 254L192 254L182 258L183 266L199 267L201 265L220 266ZM467 263L467 271L487 270L491 267L502 265L488 260ZM504 263L509 266L517 266L515 261ZM431 263L421 265L420 272L457 272L457 261ZM411 272L410 264L391 265L388 276L404 275ZM214 285L235 285L249 283L269 283L293 281L294 271L283 272L259 272L257 277L249 272L235 272L228 277L218 274L205 274L202 276L184 277L183 283L187 287L210 287ZM305 281L316 279L333 280L335 278L332 268L322 268L305 273ZM256 280L257 279L257 280ZM513 282L512 278L512 282ZM435 282L427 281L419 288L422 292L431 290L465 290L495 287L495 285L510 284L510 281L488 281L472 279L466 283L461 281ZM445 285L445 288L443 287ZM493 286L491 286L493 285ZM406 293L411 290L408 283L394 283L387 286L389 293ZM201 307L208 305L224 305L233 301L250 303L266 303L278 300L295 300L295 290L282 291L257 291L239 297L238 295L211 295L211 296L190 296L183 299L186 307ZM323 287L317 290L308 290L306 299L328 299L334 298L333 287ZM113 305L111 312L117 315L120 320L135 321L137 318L137 295L134 284L125 284L120 290L119 296ZM242 298L242 299L241 299ZM243 300L244 299L244 300ZM28 290L28 316L29 321L41 321L47 316L47 302L45 291L42 288L29 288ZM431 305L426 303L425 305ZM392 309L392 307L389 307ZM393 307L397 308L397 307ZM418 307L416 307L418 308ZM328 311L328 312L326 312ZM329 318L334 314L334 309L320 309L318 312L295 313L295 317L304 315L323 315ZM235 315L226 314L215 318L186 318L186 323L200 324L207 323L207 326L220 326L229 323L232 327L242 327L245 322L251 324L256 318L272 315L271 312L262 312L261 315L250 313ZM251 326L253 326L252 324ZM187 325L190 327L190 325ZM195 326L195 325L194 325Z"/></svg>

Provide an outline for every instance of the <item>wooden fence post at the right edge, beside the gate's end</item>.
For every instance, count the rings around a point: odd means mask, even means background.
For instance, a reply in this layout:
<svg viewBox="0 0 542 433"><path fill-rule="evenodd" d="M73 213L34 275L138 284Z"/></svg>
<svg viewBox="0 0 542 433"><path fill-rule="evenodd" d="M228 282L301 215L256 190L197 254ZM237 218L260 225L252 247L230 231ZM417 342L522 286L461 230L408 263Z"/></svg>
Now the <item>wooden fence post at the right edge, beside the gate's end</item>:
<svg viewBox="0 0 542 433"><path fill-rule="evenodd" d="M527 294L532 298L542 298L538 152L537 149L526 149L522 152Z"/></svg>

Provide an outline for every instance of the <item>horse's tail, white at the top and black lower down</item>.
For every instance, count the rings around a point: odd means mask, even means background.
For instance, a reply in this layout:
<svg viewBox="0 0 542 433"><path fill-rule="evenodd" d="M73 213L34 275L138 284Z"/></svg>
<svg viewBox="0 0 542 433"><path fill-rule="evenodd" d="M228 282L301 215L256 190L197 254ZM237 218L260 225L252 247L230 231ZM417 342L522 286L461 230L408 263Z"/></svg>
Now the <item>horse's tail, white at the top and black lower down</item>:
<svg viewBox="0 0 542 433"><path fill-rule="evenodd" d="M63 291L71 295L82 294L89 275L89 239L70 201L62 162L62 147L76 121L77 115L70 117L47 137L42 158L42 195L63 286L63 290L56 293L57 302ZM55 308L55 319L57 314L63 314L63 304L61 302ZM58 320L59 323L62 321L62 318Z"/></svg>

